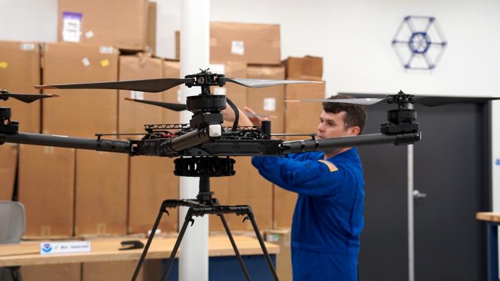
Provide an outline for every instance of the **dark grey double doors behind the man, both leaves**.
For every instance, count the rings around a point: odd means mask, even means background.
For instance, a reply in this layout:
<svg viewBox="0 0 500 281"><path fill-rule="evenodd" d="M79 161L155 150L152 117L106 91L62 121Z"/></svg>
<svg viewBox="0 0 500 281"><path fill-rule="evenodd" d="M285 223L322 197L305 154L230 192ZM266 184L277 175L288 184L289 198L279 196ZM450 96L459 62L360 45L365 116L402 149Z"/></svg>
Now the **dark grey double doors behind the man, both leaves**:
<svg viewBox="0 0 500 281"><path fill-rule="evenodd" d="M390 106L368 108L364 134L379 132ZM490 210L489 110L484 103L416 106L415 280L485 280L486 232L475 212ZM408 280L407 147L360 147L365 173L361 280Z"/></svg>

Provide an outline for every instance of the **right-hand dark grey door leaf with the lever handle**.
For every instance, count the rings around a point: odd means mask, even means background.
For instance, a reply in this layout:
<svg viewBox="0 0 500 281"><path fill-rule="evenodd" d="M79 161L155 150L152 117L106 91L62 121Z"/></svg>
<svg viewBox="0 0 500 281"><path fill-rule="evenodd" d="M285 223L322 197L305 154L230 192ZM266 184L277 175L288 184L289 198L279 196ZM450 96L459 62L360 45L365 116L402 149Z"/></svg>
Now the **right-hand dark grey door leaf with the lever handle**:
<svg viewBox="0 0 500 281"><path fill-rule="evenodd" d="M417 106L414 146L415 280L486 280L486 232L475 213L490 210L489 117L485 103Z"/></svg>

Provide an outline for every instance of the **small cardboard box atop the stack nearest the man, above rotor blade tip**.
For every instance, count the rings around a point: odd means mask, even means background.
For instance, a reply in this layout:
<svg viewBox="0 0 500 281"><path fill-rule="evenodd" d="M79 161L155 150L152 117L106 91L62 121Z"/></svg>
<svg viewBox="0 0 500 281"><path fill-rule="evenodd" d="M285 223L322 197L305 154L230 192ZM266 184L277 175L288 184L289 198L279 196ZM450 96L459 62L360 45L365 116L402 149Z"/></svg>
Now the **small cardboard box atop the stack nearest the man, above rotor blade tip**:
<svg viewBox="0 0 500 281"><path fill-rule="evenodd" d="M323 77L323 58L313 56L288 57L283 63L286 66L286 79L321 81L321 77Z"/></svg>

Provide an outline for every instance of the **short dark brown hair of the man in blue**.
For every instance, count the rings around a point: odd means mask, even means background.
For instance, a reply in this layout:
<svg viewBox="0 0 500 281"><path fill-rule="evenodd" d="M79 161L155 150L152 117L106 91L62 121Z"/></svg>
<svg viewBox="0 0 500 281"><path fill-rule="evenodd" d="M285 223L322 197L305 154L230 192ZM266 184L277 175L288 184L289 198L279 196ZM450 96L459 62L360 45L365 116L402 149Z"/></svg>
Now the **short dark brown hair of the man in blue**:
<svg viewBox="0 0 500 281"><path fill-rule="evenodd" d="M354 99L349 95L336 95L328 99ZM329 113L339 113L345 111L344 123L347 127L360 127L360 134L363 132L364 123L366 122L366 109L360 104L353 103L337 103L323 102L323 110Z"/></svg>

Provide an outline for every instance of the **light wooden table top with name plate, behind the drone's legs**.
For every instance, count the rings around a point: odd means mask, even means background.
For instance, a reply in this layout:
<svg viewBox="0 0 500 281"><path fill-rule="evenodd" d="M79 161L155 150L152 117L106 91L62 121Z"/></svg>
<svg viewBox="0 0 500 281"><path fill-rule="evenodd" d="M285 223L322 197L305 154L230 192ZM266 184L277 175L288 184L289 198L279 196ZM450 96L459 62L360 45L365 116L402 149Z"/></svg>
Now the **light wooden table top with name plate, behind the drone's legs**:
<svg viewBox="0 0 500 281"><path fill-rule="evenodd" d="M168 258L171 255L176 237L153 239L149 247L147 259ZM138 260L142 249L130 249L118 251L121 248L121 241L139 240L146 244L146 239L122 238L122 239L93 239L92 252L73 254L45 254L40 255L41 241L26 241L20 244L0 245L0 267L18 265L48 265L56 263L71 262L98 262L112 260ZM257 239L249 236L234 236L238 250L242 255L260 255L260 248ZM279 246L272 243L265 243L269 254L278 254ZM234 249L227 236L209 236L208 239L209 256L234 256ZM179 256L179 252L177 252Z"/></svg>

